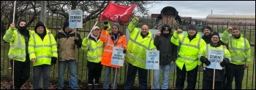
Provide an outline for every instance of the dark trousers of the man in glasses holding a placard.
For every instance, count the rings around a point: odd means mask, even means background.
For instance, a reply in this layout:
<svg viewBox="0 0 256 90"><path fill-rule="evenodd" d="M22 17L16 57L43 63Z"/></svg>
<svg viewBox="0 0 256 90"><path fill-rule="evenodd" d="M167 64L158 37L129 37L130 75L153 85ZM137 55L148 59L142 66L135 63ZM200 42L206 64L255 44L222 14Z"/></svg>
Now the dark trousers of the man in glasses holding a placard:
<svg viewBox="0 0 256 90"><path fill-rule="evenodd" d="M202 89L212 89L212 81L203 81L203 88ZM223 89L222 81L215 81L214 82L214 89Z"/></svg>

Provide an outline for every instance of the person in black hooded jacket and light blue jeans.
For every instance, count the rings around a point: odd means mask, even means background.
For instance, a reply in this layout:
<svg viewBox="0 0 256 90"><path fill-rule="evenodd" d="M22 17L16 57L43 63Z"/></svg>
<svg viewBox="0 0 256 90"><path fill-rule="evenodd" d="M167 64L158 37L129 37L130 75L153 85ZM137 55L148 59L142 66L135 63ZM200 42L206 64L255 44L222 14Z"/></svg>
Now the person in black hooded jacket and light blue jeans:
<svg viewBox="0 0 256 90"><path fill-rule="evenodd" d="M154 38L154 46L159 50L159 70L154 70L154 82L153 89L168 89L170 82L170 65L177 57L177 46L170 42L170 38L173 36L171 33L170 25L163 25L161 32L157 33ZM162 69L162 86L159 85L159 75Z"/></svg>

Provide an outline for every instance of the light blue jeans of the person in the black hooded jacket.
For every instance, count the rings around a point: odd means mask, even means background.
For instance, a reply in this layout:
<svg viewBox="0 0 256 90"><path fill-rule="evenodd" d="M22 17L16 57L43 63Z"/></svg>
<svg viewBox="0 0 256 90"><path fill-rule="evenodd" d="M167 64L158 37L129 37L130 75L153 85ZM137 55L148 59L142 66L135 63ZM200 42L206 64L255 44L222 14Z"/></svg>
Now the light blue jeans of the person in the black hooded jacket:
<svg viewBox="0 0 256 90"><path fill-rule="evenodd" d="M159 70L154 70L154 82L153 82L153 89L160 89L159 85L159 75L161 69L162 72L162 86L161 89L168 89L169 88L169 81L170 81L170 65L159 65Z"/></svg>

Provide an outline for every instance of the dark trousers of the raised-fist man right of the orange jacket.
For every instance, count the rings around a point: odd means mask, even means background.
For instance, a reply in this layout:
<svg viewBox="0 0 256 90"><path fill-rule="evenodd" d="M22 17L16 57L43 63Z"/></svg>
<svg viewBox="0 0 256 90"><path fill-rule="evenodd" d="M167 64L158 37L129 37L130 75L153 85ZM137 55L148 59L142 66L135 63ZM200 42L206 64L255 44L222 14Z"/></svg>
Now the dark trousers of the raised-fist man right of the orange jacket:
<svg viewBox="0 0 256 90"><path fill-rule="evenodd" d="M135 83L135 76L138 70L138 78L139 78L139 88L147 89L147 77L148 70L133 66L129 63L128 71L127 71L127 81L125 81L124 89L131 89L133 84Z"/></svg>

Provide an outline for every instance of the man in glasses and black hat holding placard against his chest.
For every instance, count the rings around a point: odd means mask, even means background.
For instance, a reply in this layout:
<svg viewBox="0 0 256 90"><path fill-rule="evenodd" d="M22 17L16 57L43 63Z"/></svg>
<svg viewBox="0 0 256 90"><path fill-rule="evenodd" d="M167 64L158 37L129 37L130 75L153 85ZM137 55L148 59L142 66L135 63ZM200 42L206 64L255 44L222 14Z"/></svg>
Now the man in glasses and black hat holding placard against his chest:
<svg viewBox="0 0 256 90"><path fill-rule="evenodd" d="M210 44L206 44L198 52L199 63L203 62L204 67L202 89L223 89L224 67L230 62L230 52L222 46L219 39L219 33L212 33Z"/></svg>

